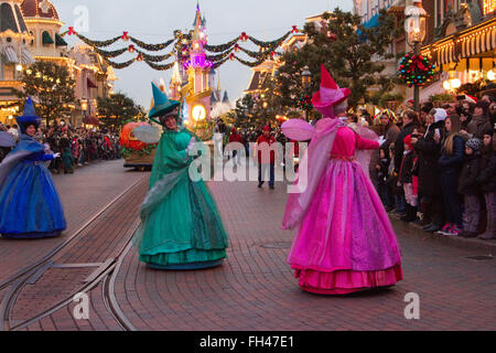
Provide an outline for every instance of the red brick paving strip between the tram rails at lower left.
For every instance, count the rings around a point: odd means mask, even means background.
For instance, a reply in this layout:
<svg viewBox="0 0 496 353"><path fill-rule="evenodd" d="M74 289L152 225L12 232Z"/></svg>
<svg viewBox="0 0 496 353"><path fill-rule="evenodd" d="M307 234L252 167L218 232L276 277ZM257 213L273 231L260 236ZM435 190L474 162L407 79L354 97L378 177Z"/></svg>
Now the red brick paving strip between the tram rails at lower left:
<svg viewBox="0 0 496 353"><path fill-rule="evenodd" d="M91 225L53 258L53 265L34 282L17 295L11 312L11 325L17 325L48 310L60 301L73 298L85 279L98 271L98 266L117 258L131 238L139 220L139 205L148 190L148 178L141 180L122 199L99 215ZM74 320L75 303L31 324L29 330L116 330L117 322L105 308L103 284L91 297L91 321Z"/></svg>

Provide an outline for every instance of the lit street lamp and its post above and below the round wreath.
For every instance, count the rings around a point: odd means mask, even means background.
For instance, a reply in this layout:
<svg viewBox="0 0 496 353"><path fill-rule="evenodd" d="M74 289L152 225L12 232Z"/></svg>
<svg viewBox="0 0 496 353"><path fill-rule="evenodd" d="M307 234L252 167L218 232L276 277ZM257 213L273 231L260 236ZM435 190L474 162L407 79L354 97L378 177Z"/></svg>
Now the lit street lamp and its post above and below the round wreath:
<svg viewBox="0 0 496 353"><path fill-rule="evenodd" d="M420 55L420 44L422 44L427 34L428 13L422 7L422 0L413 0L412 7L405 10L405 30L407 32L408 45L413 46L413 55ZM414 110L419 111L420 105L420 87L413 87Z"/></svg>

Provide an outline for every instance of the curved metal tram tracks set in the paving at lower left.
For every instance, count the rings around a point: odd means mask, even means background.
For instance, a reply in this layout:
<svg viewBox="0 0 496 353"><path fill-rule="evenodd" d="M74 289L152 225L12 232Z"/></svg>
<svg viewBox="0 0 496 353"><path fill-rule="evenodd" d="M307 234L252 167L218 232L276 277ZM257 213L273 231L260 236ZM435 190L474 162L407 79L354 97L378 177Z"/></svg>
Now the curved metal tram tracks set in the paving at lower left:
<svg viewBox="0 0 496 353"><path fill-rule="evenodd" d="M7 280L0 284L0 291L8 289L6 293L1 307L0 307L0 331L18 331L28 328L29 325L42 320L51 315L52 313L67 307L72 302L74 302L74 296L76 293L89 293L94 290L99 284L103 284L101 296L104 298L105 307L108 312L111 314L114 320L119 324L122 330L126 331L134 331L134 327L130 323L130 321L126 318L114 293L114 284L119 271L120 265L122 263L123 257L127 255L129 249L132 246L132 234L134 233L138 225L136 225L130 232L130 236L125 239L125 244L119 248L117 254L111 258L107 259L101 266L98 268L96 272L91 275L91 279L79 285L76 290L73 290L71 296L66 296L55 303L51 304L50 308L46 308L35 315L21 320L21 322L15 322L12 318L13 310L15 308L15 303L20 293L23 291L26 286L33 285L37 281L37 279L43 276L43 274L51 268L54 264L54 258L62 254L64 249L67 249L69 245L74 245L77 240L82 239L86 235L86 231L95 223L98 222L99 217L105 215L109 210L112 210L114 206L118 206L119 203L123 203L126 201L126 196L128 196L133 190L139 188L144 181L148 181L148 175L139 179L137 182L127 188L122 193L116 196L112 201L110 201L105 207L103 207L97 214L91 216L82 227L79 227L76 232L74 232L65 242L53 248L47 255L45 255L42 259L36 263L23 268L15 275L11 276ZM19 321L19 320L18 320Z"/></svg>

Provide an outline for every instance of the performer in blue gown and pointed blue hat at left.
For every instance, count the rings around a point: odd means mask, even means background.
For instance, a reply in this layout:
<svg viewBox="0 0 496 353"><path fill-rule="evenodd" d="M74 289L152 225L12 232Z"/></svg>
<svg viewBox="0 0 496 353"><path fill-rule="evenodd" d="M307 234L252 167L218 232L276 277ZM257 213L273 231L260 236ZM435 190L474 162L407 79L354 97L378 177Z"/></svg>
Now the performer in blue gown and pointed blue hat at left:
<svg viewBox="0 0 496 353"><path fill-rule="evenodd" d="M0 234L14 239L60 236L66 228L64 211L43 163L60 154L45 154L33 139L41 118L31 98L17 120L19 143L0 164Z"/></svg>

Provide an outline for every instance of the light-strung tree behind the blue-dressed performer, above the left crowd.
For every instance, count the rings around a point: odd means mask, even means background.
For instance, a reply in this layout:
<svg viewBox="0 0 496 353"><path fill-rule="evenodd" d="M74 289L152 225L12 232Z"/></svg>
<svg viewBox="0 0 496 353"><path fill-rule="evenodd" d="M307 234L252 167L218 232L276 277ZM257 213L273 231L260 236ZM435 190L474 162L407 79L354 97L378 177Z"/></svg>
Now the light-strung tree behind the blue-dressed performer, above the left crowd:
<svg viewBox="0 0 496 353"><path fill-rule="evenodd" d="M47 124L69 116L75 81L66 66L36 62L23 71L22 83L23 89L14 89L15 95L20 98L34 98L36 114Z"/></svg>

